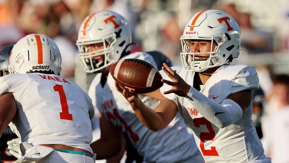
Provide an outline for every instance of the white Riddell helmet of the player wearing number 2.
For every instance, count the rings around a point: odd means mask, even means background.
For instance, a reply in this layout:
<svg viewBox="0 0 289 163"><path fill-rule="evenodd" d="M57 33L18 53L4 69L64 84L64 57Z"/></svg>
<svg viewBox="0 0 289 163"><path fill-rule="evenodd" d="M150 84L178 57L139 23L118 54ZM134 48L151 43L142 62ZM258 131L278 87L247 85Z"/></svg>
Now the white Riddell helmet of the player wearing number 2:
<svg viewBox="0 0 289 163"><path fill-rule="evenodd" d="M235 19L220 10L205 10L195 14L185 27L181 36L181 59L187 71L203 72L211 67L232 62L239 56L240 27ZM191 53L189 40L211 40L211 51L207 53ZM216 48L213 49L213 44ZM210 54L207 60L194 60L194 55ZM192 56L192 57L190 57ZM191 59L192 58L192 59Z"/></svg>

